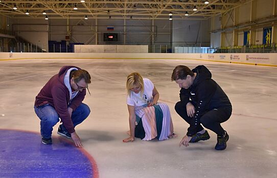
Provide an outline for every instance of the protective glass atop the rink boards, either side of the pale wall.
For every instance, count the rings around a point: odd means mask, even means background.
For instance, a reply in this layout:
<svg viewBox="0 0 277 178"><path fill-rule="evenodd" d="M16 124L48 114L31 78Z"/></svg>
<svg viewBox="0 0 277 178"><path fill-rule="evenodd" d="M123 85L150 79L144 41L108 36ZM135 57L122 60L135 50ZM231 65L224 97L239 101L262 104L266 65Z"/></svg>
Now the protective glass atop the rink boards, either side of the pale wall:
<svg viewBox="0 0 277 178"><path fill-rule="evenodd" d="M149 53L275 53L277 44L211 48L203 46L155 44L148 45ZM74 52L74 44L0 44L0 52Z"/></svg>

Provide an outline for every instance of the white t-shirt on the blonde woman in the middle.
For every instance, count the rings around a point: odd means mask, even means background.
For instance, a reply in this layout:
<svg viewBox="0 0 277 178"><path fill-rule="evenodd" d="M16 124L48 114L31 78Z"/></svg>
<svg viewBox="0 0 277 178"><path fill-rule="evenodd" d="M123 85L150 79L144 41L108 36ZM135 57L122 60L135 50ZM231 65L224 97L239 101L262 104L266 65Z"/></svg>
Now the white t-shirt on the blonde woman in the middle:
<svg viewBox="0 0 277 178"><path fill-rule="evenodd" d="M144 93L141 95L139 93L134 93L131 91L131 95L127 97L127 104L130 106L142 106L153 100L153 89L154 84L148 78L143 79L144 83Z"/></svg>

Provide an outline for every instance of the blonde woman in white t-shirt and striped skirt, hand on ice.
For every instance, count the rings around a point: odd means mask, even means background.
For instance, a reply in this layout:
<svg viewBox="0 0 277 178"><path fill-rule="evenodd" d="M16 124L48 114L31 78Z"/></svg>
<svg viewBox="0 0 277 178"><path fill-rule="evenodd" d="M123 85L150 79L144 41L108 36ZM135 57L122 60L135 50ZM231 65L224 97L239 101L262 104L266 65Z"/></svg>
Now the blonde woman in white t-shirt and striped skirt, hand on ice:
<svg viewBox="0 0 277 178"><path fill-rule="evenodd" d="M157 103L159 93L148 78L139 73L131 73L126 83L128 96L130 137L123 142L134 141L134 137L143 140L166 140L176 137L167 104Z"/></svg>

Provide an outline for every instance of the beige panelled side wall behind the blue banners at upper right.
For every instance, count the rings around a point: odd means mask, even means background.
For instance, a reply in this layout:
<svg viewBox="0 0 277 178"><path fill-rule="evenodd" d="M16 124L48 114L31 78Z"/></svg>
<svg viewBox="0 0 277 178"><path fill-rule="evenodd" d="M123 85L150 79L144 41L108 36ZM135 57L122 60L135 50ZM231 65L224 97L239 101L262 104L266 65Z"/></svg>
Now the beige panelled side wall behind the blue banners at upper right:
<svg viewBox="0 0 277 178"><path fill-rule="evenodd" d="M221 38L212 33L211 47L242 46L245 31L251 31L250 45L262 44L263 28L275 25L276 20L272 17L277 15L276 8L276 0L253 0L212 17L211 31L220 33ZM277 33L272 34L272 42L276 42L276 36Z"/></svg>

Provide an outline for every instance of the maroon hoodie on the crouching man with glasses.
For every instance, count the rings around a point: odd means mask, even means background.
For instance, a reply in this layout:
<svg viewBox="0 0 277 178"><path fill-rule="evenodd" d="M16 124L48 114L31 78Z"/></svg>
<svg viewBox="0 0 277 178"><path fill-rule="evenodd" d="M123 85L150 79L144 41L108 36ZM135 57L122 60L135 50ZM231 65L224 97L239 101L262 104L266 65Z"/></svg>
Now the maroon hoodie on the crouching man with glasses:
<svg viewBox="0 0 277 178"><path fill-rule="evenodd" d="M36 96L35 106L49 104L55 108L61 121L69 133L75 132L73 122L67 108L73 111L82 103L85 98L86 90L79 91L78 95L70 102L70 91L64 84L64 75L68 69L77 68L75 66L63 66L60 72L54 75L40 90Z"/></svg>

